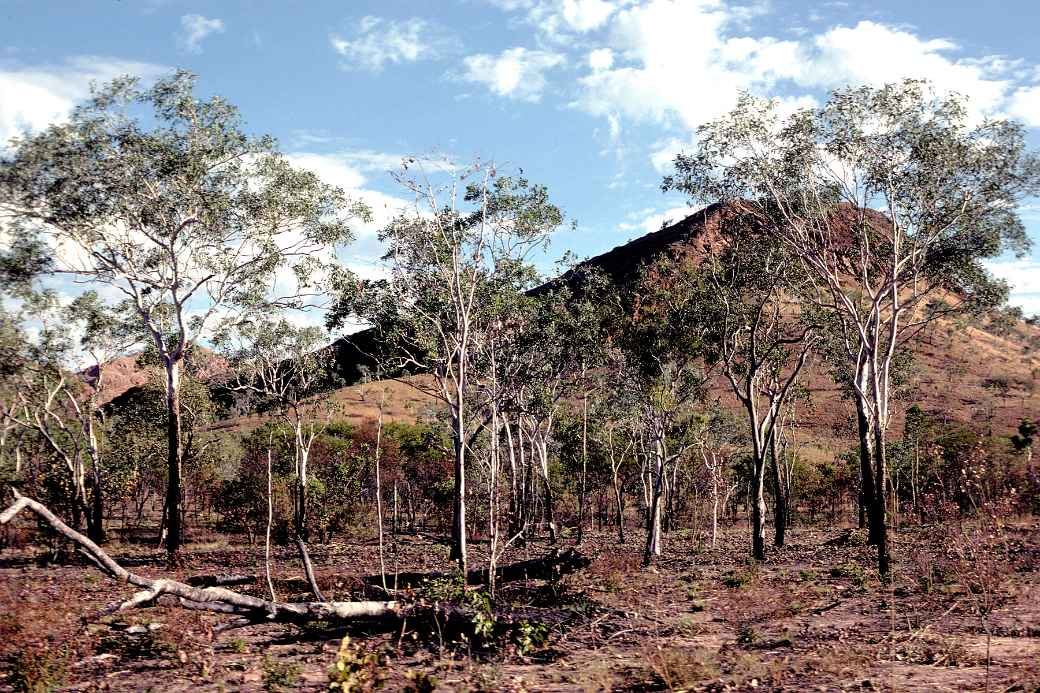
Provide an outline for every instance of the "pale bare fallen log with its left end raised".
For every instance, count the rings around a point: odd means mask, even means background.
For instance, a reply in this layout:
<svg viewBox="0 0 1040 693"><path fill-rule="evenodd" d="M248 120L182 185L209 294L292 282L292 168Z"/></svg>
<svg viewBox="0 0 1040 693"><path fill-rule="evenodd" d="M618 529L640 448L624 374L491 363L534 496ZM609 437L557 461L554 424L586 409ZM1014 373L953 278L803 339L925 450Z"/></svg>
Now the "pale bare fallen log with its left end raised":
<svg viewBox="0 0 1040 693"><path fill-rule="evenodd" d="M50 524L55 532L76 544L77 550L102 572L120 582L144 588L129 599L108 607L102 615L151 606L165 595L176 598L177 604L186 609L237 615L240 617L239 624L306 623L315 620L396 620L402 615L401 605L397 601L270 601L224 587L192 587L176 580L145 578L121 566L100 546L66 524L43 504L20 494L17 490L15 498L15 503L0 514L0 524L7 524L18 513L29 510Z"/></svg>

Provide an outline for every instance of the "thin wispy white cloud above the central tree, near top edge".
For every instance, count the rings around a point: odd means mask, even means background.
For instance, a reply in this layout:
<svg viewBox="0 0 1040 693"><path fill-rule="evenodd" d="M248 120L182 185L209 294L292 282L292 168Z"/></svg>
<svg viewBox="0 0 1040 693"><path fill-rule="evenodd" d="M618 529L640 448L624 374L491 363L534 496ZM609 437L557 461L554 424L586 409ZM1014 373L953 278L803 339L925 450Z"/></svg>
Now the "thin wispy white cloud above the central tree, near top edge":
<svg viewBox="0 0 1040 693"><path fill-rule="evenodd" d="M379 72L388 63L433 60L458 48L458 41L419 18L402 22L364 17L352 38L333 34L333 49L343 57L343 67Z"/></svg>

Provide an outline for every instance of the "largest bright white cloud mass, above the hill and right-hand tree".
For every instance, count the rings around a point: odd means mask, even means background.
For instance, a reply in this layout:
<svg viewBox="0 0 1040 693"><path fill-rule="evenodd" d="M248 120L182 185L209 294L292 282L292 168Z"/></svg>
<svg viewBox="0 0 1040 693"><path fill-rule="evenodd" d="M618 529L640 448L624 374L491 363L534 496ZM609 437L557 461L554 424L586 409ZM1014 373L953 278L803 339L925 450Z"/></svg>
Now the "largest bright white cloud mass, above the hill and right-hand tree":
<svg viewBox="0 0 1040 693"><path fill-rule="evenodd" d="M798 40L749 35L748 17L723 0L626 3L587 53L572 105L691 132L731 109L740 91L783 95L782 109L791 110L847 84L927 78L967 96L977 117L1010 113L1040 126L1040 86L1016 88L1030 78L1021 60L964 56L948 40L870 21Z"/></svg>

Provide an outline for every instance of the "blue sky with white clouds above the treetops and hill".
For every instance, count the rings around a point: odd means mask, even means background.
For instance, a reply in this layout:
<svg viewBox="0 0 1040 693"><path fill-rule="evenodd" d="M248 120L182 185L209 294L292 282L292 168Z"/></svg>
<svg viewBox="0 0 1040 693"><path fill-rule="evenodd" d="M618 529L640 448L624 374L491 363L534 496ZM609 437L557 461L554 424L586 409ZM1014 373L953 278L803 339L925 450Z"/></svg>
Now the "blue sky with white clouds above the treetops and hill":
<svg viewBox="0 0 1040 693"><path fill-rule="evenodd" d="M402 197L388 172L425 154L522 169L577 223L552 255L592 256L691 211L661 177L740 91L798 107L928 78L1040 148L1038 25L1036 0L0 0L0 143L67 118L92 80L186 68L368 201L361 273ZM1022 216L1040 247L1040 201ZM1040 248L990 266L1040 313Z"/></svg>

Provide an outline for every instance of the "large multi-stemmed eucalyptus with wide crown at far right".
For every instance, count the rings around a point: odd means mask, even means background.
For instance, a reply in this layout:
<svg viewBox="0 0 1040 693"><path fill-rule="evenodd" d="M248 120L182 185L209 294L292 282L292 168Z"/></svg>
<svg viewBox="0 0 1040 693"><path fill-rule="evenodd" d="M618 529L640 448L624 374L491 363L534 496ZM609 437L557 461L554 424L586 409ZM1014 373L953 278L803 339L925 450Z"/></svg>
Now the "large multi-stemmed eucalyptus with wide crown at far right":
<svg viewBox="0 0 1040 693"><path fill-rule="evenodd" d="M982 261L1029 238L1019 201L1040 190L1024 129L973 119L958 96L920 81L849 87L783 117L744 96L699 129L667 189L743 200L812 284L838 324L867 419L878 568L889 555L884 490L891 369L899 348L933 320L1000 303L1007 287Z"/></svg>

